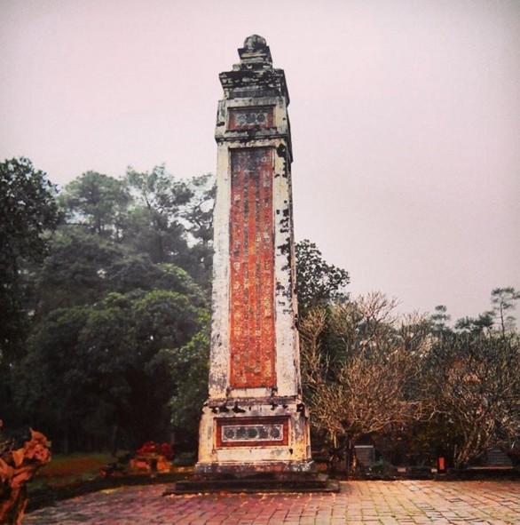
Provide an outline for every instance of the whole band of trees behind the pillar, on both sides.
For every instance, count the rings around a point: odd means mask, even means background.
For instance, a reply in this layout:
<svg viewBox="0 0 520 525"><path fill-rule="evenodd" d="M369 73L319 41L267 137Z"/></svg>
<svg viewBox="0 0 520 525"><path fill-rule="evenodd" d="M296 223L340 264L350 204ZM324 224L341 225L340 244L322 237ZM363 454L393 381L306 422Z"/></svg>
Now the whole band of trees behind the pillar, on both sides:
<svg viewBox="0 0 520 525"><path fill-rule="evenodd" d="M87 171L58 192L27 159L0 163L0 415L56 449L194 449L207 397L212 208L209 175L164 166ZM382 292L297 243L305 402L330 446L373 442L395 461L453 465L499 447L520 462L520 292L451 324L396 314Z"/></svg>

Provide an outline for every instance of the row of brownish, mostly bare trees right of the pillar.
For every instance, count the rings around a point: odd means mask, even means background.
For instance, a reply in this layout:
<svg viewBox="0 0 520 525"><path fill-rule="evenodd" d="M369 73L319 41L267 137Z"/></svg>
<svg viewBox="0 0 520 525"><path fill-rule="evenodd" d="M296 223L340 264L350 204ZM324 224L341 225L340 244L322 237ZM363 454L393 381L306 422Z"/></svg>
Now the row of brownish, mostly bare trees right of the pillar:
<svg viewBox="0 0 520 525"><path fill-rule="evenodd" d="M369 439L413 464L442 450L464 467L492 447L518 462L520 336L500 311L515 297L492 290L493 310L454 328L445 306L399 316L380 292L312 308L300 333L317 434L344 448Z"/></svg>

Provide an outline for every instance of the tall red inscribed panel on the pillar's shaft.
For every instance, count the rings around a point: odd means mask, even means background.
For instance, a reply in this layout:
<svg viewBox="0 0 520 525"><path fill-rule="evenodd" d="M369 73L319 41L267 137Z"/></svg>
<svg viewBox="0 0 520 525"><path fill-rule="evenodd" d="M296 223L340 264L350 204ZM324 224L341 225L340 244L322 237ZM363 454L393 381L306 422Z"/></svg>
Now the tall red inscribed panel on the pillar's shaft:
<svg viewBox="0 0 520 525"><path fill-rule="evenodd" d="M231 153L230 385L275 386L272 148Z"/></svg>

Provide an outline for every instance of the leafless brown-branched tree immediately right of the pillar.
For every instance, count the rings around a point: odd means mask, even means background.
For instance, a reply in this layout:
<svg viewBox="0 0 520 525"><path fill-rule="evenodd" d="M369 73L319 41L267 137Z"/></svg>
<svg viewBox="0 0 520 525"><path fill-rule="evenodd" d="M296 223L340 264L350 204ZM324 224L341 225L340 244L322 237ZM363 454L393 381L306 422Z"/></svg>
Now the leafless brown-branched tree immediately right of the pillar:
<svg viewBox="0 0 520 525"><path fill-rule="evenodd" d="M429 348L422 319L399 322L396 301L372 293L312 310L301 325L303 380L313 425L355 441L385 434L429 413L421 360Z"/></svg>

